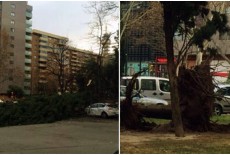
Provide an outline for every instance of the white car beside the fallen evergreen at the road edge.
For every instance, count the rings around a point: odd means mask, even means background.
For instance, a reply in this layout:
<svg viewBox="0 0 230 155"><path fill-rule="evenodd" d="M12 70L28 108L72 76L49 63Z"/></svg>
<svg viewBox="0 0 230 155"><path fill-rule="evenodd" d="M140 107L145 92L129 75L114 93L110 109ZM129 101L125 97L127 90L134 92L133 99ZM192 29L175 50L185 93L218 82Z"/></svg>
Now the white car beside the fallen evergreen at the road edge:
<svg viewBox="0 0 230 155"><path fill-rule="evenodd" d="M117 104L111 103L94 103L86 107L85 112L90 116L101 116L107 118L118 116L119 110Z"/></svg>

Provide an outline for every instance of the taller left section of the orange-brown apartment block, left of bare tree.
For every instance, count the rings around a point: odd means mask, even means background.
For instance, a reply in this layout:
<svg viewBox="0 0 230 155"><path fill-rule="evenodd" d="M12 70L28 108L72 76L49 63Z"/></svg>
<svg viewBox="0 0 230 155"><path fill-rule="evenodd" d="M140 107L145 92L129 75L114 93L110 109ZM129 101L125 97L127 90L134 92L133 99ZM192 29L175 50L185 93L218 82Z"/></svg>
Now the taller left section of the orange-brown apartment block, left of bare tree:
<svg viewBox="0 0 230 155"><path fill-rule="evenodd" d="M51 86L47 85L49 81L49 77L47 76L47 59L49 54L52 53L51 42L54 40L61 42L63 40L68 40L68 38L40 30L33 30L32 32L32 94L52 91L50 90ZM52 87L55 87L56 83L52 85Z"/></svg>

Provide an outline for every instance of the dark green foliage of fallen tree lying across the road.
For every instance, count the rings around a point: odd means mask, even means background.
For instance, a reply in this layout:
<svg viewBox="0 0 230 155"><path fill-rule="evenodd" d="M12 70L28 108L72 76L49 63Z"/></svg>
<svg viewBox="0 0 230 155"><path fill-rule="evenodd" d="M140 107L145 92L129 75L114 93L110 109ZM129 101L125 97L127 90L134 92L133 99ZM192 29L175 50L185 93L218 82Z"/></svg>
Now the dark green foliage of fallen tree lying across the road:
<svg viewBox="0 0 230 155"><path fill-rule="evenodd" d="M83 94L33 96L18 103L0 104L0 126L51 123L84 114Z"/></svg>

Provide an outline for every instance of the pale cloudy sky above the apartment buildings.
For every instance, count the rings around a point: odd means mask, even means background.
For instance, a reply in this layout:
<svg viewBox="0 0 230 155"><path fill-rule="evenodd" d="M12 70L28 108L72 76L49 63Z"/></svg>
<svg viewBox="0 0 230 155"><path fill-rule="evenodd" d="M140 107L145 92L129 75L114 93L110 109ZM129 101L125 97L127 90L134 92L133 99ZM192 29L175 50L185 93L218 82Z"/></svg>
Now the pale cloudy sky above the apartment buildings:
<svg viewBox="0 0 230 155"><path fill-rule="evenodd" d="M33 7L32 28L67 37L76 48L91 50L95 53L98 47L90 40L89 23L93 15L87 12L87 1L28 1ZM111 18L107 29L118 30L118 19ZM111 26L113 25L113 26Z"/></svg>

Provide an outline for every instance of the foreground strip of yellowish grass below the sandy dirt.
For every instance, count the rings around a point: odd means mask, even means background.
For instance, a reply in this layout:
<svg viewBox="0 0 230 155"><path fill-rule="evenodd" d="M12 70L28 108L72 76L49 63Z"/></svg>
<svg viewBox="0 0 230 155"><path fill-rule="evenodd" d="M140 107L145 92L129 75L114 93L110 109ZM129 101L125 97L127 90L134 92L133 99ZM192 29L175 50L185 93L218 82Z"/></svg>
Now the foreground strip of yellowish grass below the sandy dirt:
<svg viewBox="0 0 230 155"><path fill-rule="evenodd" d="M139 143L122 142L121 153L135 154L226 154L230 152L229 139L227 134L206 133L197 135L194 139L158 139L152 138L149 141ZM154 134L153 136L154 137ZM164 134L161 135L164 137Z"/></svg>

